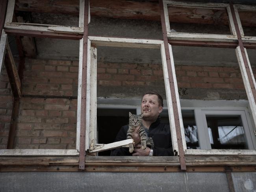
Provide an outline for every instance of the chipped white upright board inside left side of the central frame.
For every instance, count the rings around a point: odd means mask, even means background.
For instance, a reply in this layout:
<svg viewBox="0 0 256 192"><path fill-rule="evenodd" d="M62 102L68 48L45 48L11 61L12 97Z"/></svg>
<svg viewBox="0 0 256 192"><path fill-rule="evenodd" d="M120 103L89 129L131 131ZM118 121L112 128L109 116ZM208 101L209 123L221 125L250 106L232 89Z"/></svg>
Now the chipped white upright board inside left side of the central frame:
<svg viewBox="0 0 256 192"><path fill-rule="evenodd" d="M96 137L97 137L97 49L95 47L91 47L91 78L90 84L90 120L89 120L89 137L90 137L90 150L93 150L95 147ZM89 69L88 69L89 70Z"/></svg>

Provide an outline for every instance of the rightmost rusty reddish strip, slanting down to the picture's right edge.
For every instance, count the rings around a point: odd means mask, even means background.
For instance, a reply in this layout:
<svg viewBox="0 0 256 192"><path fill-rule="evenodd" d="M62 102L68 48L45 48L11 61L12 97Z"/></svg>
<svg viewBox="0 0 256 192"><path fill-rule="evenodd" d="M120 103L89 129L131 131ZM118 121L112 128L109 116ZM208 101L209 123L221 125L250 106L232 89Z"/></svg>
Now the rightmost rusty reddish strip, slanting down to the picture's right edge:
<svg viewBox="0 0 256 192"><path fill-rule="evenodd" d="M255 85L254 85L253 80L252 80L252 75L250 73L250 68L249 68L248 61L247 61L247 58L246 58L246 55L245 55L245 48L243 46L243 41L242 41L242 37L241 37L241 32L240 32L239 26L237 24L237 18L236 18L236 14L235 14L235 10L234 10L234 6L233 6L232 2L230 2L230 10L231 10L231 14L232 14L232 17L233 17L233 20L234 20L234 25L235 25L235 29L236 29L238 44L239 44L241 54L242 54L242 57L243 57L243 62L245 64L245 69L246 69L246 73L247 73L247 76L248 76L248 79L249 79L250 88L252 90L252 95L254 97L254 100L256 100L256 88L255 88Z"/></svg>

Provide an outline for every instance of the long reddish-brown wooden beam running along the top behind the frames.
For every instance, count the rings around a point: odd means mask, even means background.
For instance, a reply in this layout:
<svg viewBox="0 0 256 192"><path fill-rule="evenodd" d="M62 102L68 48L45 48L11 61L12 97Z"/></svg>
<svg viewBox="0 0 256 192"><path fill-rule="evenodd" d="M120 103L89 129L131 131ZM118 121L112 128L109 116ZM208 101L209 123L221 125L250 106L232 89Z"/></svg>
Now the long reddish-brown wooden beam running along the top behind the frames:
<svg viewBox="0 0 256 192"><path fill-rule="evenodd" d="M172 5L176 7L169 7L169 18L171 22L186 22L186 23L200 23L200 24L224 24L228 25L228 20L224 19L226 10L220 9L228 4L214 4L212 9L206 8L204 12L200 11L203 6L208 4L198 3L183 3L181 7L177 1L172 1ZM111 5L111 6L109 6ZM220 6L221 5L221 6ZM210 5L209 5L210 6ZM79 1L56 1L49 4L48 0L34 0L28 2L26 0L16 0L16 11L32 11L56 14L70 14L79 15ZM91 15L98 17L112 17L112 18L129 18L129 19L145 19L145 20L160 20L160 9L158 2L139 2L126 0L91 0L90 1ZM241 18L248 18L245 11L239 13ZM251 19L245 26L256 26L256 20Z"/></svg>

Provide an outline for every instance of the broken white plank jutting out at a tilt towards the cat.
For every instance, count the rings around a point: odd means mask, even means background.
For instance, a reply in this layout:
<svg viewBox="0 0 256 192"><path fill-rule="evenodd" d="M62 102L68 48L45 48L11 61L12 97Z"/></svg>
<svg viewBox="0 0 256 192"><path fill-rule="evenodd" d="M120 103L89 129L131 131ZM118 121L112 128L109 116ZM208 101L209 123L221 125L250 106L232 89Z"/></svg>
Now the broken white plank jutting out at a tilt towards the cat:
<svg viewBox="0 0 256 192"><path fill-rule="evenodd" d="M102 144L100 146L96 146L93 150L89 150L89 153L96 153L96 152L100 152L100 151L111 150L111 149L119 148L122 146L126 146L128 144L132 144L133 142L134 142L134 140L132 138L130 138L130 139L117 141L117 142L113 142L113 143L109 143L109 144Z"/></svg>

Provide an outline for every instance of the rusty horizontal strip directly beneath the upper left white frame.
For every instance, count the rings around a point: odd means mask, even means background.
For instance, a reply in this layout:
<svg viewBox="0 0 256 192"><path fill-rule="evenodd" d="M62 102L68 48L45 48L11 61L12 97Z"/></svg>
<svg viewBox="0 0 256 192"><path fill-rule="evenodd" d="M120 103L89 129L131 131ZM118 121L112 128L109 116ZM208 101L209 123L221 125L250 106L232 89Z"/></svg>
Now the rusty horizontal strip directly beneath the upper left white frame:
<svg viewBox="0 0 256 192"><path fill-rule="evenodd" d="M26 37L41 37L41 38L54 38L54 39L71 39L80 40L82 39L82 34L73 33L57 33L51 31L30 31L30 30L18 30L18 29L5 29L7 34L26 36Z"/></svg>

